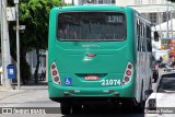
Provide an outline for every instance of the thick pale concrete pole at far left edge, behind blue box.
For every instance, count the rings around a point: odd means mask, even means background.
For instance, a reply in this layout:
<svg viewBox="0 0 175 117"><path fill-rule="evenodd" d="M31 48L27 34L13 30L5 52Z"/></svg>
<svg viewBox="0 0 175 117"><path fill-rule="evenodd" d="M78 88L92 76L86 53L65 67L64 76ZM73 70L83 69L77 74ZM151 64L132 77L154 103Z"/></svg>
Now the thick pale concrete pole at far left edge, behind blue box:
<svg viewBox="0 0 175 117"><path fill-rule="evenodd" d="M5 89L11 87L11 80L8 79L7 66L11 63L9 25L7 20L7 0L1 0L1 54L2 54L2 85Z"/></svg>

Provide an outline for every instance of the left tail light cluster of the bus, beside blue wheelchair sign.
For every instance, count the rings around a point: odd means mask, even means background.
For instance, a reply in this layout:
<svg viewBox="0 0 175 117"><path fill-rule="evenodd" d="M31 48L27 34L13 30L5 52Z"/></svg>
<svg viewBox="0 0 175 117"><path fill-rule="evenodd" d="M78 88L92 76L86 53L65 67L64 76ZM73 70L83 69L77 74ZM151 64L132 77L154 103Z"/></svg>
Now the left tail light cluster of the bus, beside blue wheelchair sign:
<svg viewBox="0 0 175 117"><path fill-rule="evenodd" d="M61 80L60 80L59 72L55 61L50 66L50 73L51 73L52 82L58 85L61 85Z"/></svg>

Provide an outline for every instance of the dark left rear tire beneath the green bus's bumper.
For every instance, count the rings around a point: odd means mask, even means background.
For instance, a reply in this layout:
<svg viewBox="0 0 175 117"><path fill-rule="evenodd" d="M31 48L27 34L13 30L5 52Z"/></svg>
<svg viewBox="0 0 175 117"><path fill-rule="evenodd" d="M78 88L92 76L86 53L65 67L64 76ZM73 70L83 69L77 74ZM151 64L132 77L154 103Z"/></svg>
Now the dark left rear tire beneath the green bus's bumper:
<svg viewBox="0 0 175 117"><path fill-rule="evenodd" d="M61 114L62 115L69 115L71 114L71 105L68 104L68 103L60 103L60 106L61 106Z"/></svg>

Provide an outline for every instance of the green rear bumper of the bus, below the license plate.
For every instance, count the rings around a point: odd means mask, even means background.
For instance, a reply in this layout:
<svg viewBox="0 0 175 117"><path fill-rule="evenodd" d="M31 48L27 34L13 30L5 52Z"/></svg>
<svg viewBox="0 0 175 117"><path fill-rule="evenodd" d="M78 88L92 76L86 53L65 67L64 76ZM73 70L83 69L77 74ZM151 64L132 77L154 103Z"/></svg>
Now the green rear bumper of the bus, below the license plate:
<svg viewBox="0 0 175 117"><path fill-rule="evenodd" d="M49 97L135 97L132 83L119 86L78 87L48 83Z"/></svg>

